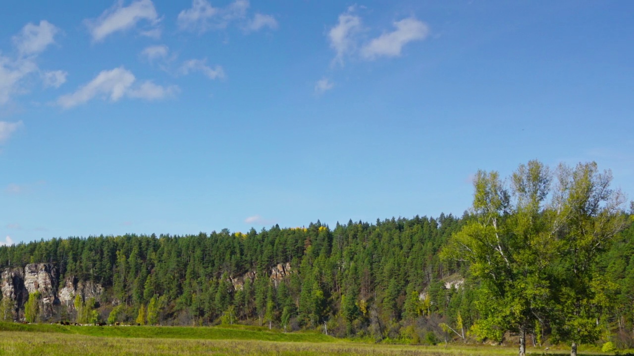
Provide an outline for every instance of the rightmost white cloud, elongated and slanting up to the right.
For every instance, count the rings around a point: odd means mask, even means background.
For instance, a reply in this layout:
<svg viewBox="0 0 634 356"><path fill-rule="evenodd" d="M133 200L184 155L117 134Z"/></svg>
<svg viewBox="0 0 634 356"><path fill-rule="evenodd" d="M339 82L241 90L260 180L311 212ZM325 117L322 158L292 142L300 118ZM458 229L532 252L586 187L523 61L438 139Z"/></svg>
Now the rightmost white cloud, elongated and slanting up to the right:
<svg viewBox="0 0 634 356"><path fill-rule="evenodd" d="M377 56L395 57L401 55L403 46L411 41L420 41L429 34L429 27L415 18L405 18L394 22L396 30L370 41L361 49L361 56L373 60Z"/></svg>

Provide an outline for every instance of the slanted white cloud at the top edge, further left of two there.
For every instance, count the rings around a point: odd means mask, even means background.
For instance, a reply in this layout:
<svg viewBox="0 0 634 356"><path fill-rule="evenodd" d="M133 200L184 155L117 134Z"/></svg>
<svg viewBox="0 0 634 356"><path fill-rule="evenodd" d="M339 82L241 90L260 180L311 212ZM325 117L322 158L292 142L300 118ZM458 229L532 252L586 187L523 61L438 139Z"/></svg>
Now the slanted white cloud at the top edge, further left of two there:
<svg viewBox="0 0 634 356"><path fill-rule="evenodd" d="M86 20L85 23L93 35L93 41L101 41L114 32L131 29L141 20L148 20L151 25L159 23L159 15L152 0L138 0L130 6L122 6L122 1L119 1L96 20Z"/></svg>

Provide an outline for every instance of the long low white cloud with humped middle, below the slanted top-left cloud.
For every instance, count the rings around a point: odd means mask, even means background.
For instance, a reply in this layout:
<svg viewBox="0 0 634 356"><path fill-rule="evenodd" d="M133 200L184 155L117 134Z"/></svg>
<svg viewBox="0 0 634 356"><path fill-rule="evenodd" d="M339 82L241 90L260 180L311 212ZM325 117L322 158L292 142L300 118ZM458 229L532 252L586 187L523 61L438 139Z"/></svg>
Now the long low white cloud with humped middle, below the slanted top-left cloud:
<svg viewBox="0 0 634 356"><path fill-rule="evenodd" d="M117 101L124 96L129 98L160 99L178 91L178 87L165 88L152 82L143 82L143 84L134 87L134 82L136 82L136 78L133 73L124 67L103 70L88 84L77 89L77 91L60 96L57 99L57 104L63 108L71 108L72 106L86 103L96 96L110 98L111 101Z"/></svg>

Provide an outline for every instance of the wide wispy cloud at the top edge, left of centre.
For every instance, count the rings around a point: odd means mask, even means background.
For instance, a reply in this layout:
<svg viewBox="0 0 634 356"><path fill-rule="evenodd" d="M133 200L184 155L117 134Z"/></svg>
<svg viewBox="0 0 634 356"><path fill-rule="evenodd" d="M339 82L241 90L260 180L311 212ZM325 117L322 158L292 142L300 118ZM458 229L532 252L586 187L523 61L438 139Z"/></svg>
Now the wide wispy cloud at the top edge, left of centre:
<svg viewBox="0 0 634 356"><path fill-rule="evenodd" d="M248 0L235 0L223 8L214 8L207 0L193 0L191 8L178 14L177 23L179 29L199 34L226 29L232 22L237 22L245 32L278 27L277 20L271 15L256 13L252 19L247 19L249 8Z"/></svg>

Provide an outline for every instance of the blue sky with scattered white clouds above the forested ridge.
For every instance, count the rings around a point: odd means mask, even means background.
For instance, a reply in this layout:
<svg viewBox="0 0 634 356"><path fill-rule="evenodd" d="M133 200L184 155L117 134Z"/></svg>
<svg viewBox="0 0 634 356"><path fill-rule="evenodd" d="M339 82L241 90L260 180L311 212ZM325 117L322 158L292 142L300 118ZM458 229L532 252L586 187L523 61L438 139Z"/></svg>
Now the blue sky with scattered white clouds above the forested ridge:
<svg viewBox="0 0 634 356"><path fill-rule="evenodd" d="M630 1L9 1L0 241L462 215L479 169L634 194Z"/></svg>

